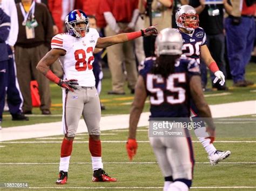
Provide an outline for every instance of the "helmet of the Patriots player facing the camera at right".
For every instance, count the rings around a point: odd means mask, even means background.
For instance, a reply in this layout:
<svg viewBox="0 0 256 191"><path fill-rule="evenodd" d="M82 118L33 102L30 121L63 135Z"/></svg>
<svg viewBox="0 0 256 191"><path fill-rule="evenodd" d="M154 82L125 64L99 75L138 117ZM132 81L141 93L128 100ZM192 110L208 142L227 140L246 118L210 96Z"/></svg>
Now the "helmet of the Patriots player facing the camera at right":
<svg viewBox="0 0 256 191"><path fill-rule="evenodd" d="M176 12L175 19L177 26L187 31L193 31L199 26L197 11L190 5L180 6Z"/></svg>

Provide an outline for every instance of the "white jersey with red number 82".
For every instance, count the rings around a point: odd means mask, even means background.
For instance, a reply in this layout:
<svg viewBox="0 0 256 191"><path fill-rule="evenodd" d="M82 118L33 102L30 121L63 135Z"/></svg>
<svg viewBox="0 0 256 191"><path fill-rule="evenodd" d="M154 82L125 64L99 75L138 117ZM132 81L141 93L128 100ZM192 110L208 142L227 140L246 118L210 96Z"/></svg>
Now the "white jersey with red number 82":
<svg viewBox="0 0 256 191"><path fill-rule="evenodd" d="M58 34L52 38L52 49L66 51L65 56L59 58L64 70L63 79L77 79L79 86L95 86L92 63L98 38L98 31L92 28L83 38L73 37L69 33Z"/></svg>

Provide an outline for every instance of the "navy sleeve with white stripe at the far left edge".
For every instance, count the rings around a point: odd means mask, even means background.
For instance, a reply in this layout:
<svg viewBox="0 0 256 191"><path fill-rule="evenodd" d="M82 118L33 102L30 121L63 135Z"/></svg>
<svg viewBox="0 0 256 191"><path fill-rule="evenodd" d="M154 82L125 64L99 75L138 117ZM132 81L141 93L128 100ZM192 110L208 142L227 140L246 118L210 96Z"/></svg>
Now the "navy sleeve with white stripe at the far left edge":
<svg viewBox="0 0 256 191"><path fill-rule="evenodd" d="M5 42L10 33L11 19L0 9L0 42Z"/></svg>

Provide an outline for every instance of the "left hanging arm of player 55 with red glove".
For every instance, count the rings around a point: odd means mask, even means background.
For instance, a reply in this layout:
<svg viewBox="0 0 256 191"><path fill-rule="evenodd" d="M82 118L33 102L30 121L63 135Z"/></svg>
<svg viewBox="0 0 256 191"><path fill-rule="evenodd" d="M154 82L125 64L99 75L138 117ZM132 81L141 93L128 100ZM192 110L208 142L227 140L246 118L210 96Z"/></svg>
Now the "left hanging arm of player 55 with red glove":
<svg viewBox="0 0 256 191"><path fill-rule="evenodd" d="M147 93L146 93L144 80L142 76L139 76L135 86L134 100L130 110L129 137L126 144L126 150L130 160L132 160L138 148L137 141L136 141L136 130L137 130L140 114L142 113L144 108L146 98L147 98Z"/></svg>

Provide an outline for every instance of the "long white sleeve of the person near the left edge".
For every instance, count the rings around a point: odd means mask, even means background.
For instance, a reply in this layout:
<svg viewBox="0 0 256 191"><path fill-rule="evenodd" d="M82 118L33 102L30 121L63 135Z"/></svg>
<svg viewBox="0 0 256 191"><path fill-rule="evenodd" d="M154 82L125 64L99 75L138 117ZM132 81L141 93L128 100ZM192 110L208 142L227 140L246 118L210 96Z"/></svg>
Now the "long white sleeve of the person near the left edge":
<svg viewBox="0 0 256 191"><path fill-rule="evenodd" d="M18 38L18 32L19 32L19 24L18 24L18 13L16 4L14 1L7 1L8 2L8 11L11 18L11 29L10 29L10 35L8 38L7 43L10 46L14 46L17 38Z"/></svg>

